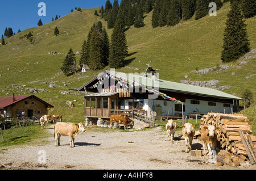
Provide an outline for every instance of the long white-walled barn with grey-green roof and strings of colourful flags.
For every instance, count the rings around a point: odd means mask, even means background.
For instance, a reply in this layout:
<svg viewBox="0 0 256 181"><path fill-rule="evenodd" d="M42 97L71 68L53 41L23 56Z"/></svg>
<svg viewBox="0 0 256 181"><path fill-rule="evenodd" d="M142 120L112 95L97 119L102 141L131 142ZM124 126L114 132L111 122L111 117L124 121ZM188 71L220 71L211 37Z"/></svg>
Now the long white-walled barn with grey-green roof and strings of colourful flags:
<svg viewBox="0 0 256 181"><path fill-rule="evenodd" d="M105 70L79 91L85 92L86 117L134 111L147 117L232 113L239 111L241 100L222 91L158 79L150 67L141 75Z"/></svg>

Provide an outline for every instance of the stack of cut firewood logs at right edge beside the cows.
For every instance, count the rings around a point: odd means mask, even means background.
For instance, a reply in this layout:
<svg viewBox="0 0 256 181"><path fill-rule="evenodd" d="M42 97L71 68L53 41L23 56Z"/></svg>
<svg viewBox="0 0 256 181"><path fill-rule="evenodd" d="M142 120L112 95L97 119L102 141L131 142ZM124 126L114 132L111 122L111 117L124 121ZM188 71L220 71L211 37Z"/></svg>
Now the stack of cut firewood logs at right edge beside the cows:
<svg viewBox="0 0 256 181"><path fill-rule="evenodd" d="M239 129L245 134L247 140L248 135L251 138L249 138L251 149L254 147L255 150L256 148L256 136L252 135L249 119L243 115L209 112L201 118L200 127L204 125L220 127L220 130L217 131L220 148L230 153L247 155L246 147L243 144L245 140L242 140Z"/></svg>

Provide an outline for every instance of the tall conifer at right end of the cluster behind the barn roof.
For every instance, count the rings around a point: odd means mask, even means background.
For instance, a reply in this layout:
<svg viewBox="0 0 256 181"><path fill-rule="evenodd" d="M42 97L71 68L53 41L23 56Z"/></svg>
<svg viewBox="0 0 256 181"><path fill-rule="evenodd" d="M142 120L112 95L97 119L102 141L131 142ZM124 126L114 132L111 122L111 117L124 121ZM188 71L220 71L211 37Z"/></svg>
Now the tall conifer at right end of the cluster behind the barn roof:
<svg viewBox="0 0 256 181"><path fill-rule="evenodd" d="M109 65L110 68L122 68L125 65L125 57L128 54L125 27L122 20L117 19L111 37Z"/></svg>

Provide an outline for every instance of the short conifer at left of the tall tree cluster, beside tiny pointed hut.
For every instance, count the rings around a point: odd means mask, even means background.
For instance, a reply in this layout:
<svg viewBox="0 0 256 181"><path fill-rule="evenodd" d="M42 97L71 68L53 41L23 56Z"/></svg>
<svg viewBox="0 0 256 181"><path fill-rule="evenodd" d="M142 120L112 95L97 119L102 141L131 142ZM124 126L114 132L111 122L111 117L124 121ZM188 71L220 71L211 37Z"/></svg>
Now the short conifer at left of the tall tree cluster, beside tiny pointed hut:
<svg viewBox="0 0 256 181"><path fill-rule="evenodd" d="M77 71L76 57L72 48L69 49L68 54L65 57L65 60L63 61L63 66L60 69L63 71L63 73L66 76L76 73Z"/></svg>

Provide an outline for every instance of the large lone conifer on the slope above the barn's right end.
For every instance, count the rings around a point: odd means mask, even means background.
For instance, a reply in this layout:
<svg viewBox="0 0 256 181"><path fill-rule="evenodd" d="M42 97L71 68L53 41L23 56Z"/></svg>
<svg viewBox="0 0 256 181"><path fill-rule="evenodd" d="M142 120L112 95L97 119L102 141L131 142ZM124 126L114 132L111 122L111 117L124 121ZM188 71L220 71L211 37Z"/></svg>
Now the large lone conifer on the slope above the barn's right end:
<svg viewBox="0 0 256 181"><path fill-rule="evenodd" d="M228 13L223 48L224 50L222 50L221 54L223 62L237 60L243 54L250 51L245 20L243 20L243 15L237 1L231 4L231 10Z"/></svg>

